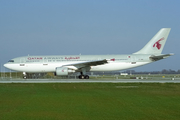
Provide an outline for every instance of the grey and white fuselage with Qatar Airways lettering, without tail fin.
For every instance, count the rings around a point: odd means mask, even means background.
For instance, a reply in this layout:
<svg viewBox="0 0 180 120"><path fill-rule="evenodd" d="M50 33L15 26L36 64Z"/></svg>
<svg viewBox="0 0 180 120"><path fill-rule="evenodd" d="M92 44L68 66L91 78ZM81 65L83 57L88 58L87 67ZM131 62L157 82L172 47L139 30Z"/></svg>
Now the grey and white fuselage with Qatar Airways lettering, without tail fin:
<svg viewBox="0 0 180 120"><path fill-rule="evenodd" d="M108 63L90 66L88 71L117 71L142 66L153 62L151 55L63 55L63 56L24 56L10 60L4 66L22 72L55 72L63 65L73 68L71 64L106 59Z"/></svg>

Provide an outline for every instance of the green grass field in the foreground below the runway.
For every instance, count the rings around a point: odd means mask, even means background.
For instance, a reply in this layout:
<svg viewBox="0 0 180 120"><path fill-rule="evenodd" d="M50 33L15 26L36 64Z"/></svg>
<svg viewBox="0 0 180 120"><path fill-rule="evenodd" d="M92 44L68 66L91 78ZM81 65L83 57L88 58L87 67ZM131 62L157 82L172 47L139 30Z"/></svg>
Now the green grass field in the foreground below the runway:
<svg viewBox="0 0 180 120"><path fill-rule="evenodd" d="M0 120L179 120L180 84L0 84Z"/></svg>

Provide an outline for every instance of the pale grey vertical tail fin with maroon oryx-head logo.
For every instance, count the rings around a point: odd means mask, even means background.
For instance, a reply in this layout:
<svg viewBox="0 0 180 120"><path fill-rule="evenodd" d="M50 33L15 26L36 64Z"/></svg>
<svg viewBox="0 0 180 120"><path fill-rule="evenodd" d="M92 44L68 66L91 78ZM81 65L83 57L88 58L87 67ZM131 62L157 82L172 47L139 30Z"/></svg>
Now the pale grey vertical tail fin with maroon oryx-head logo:
<svg viewBox="0 0 180 120"><path fill-rule="evenodd" d="M140 51L134 54L161 54L170 30L171 28L162 28Z"/></svg>

